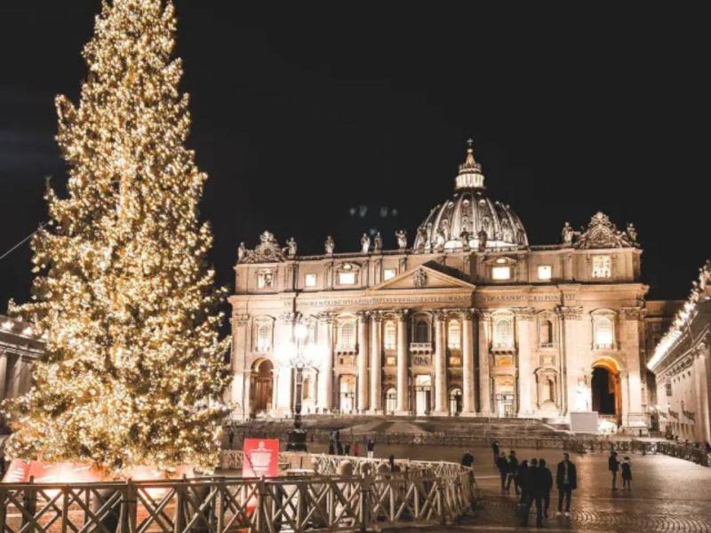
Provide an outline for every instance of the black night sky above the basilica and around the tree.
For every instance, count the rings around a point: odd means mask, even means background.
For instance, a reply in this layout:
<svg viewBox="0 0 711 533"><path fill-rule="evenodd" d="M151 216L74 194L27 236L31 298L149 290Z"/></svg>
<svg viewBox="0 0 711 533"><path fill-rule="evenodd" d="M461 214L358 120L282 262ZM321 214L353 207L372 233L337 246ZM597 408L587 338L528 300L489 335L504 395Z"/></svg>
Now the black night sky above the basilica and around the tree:
<svg viewBox="0 0 711 533"><path fill-rule="evenodd" d="M232 287L263 229L300 253L412 237L453 191L465 140L533 244L604 211L635 223L652 298L685 298L711 256L708 30L652 4L177 0L202 213ZM493 5L494 3L491 3ZM643 9L642 9L643 6ZM0 4L0 255L63 187L53 97L76 101L97 0ZM355 213L355 214L354 214ZM0 260L0 312L30 252Z"/></svg>

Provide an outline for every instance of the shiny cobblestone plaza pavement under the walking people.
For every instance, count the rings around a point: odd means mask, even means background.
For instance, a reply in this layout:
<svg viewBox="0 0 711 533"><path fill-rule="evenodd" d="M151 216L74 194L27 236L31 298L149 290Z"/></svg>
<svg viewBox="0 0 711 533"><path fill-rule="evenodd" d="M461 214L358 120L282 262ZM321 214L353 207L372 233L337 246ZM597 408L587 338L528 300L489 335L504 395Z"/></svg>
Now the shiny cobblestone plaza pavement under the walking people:
<svg viewBox="0 0 711 533"><path fill-rule="evenodd" d="M314 446L312 451L322 449ZM483 495L482 506L459 526L430 531L525 530L517 525L515 518L516 498L500 492L499 474L493 466L491 450L470 451L475 456L477 485ZM382 445L376 446L375 455L387 457L392 453L395 457L459 461L463 452L464 449L457 448ZM562 451L517 449L516 455L519 459L545 458L555 475L555 465L561 460ZM557 493L553 489L550 518L544 522L544 529L581 533L711 533L711 468L663 455L630 457L632 490L613 491L606 455L571 454L571 460L578 466L579 478L579 489L573 492L571 517L555 517ZM529 529L536 529L534 513L532 510Z"/></svg>

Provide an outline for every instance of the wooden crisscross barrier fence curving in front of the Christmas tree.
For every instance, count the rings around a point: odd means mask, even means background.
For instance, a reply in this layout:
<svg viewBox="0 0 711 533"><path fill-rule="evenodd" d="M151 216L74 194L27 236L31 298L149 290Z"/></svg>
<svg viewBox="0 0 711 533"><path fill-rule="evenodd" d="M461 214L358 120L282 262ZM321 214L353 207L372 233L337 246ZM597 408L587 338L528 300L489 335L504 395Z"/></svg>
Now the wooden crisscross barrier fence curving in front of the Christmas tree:
<svg viewBox="0 0 711 533"><path fill-rule="evenodd" d="M346 459L354 472L339 475ZM448 524L475 504L474 473L460 465L313 461L308 477L0 483L0 533L366 531Z"/></svg>

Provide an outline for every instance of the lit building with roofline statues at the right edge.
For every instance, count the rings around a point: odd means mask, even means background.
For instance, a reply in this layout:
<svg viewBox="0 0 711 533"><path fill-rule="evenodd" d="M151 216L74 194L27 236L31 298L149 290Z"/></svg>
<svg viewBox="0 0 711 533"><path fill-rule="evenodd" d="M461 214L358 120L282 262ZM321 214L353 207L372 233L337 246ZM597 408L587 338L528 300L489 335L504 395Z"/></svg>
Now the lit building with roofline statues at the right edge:
<svg viewBox="0 0 711 533"><path fill-rule="evenodd" d="M706 445L711 442L711 259L699 272L647 367L656 376L660 430Z"/></svg>

